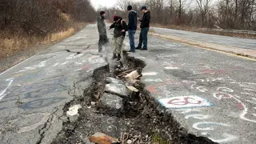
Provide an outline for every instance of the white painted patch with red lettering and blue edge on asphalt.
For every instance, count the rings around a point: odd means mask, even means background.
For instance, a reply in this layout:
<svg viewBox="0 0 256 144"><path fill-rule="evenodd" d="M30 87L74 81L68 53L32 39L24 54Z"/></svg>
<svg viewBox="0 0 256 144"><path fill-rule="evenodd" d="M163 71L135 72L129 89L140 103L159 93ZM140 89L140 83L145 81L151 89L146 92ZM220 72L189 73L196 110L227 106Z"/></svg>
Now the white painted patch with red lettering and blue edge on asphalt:
<svg viewBox="0 0 256 144"><path fill-rule="evenodd" d="M210 101L195 95L162 98L158 100L166 108L190 108L214 106Z"/></svg>

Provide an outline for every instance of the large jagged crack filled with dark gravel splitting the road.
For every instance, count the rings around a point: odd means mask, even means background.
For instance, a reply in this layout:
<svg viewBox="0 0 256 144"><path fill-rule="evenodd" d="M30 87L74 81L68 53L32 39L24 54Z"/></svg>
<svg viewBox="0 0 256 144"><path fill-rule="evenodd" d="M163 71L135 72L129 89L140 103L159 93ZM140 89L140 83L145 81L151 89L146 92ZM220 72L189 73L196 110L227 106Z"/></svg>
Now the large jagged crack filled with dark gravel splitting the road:
<svg viewBox="0 0 256 144"><path fill-rule="evenodd" d="M124 54L122 66L119 62L115 63L112 70L113 63L94 70L94 81L91 82L90 88L86 88L83 94L73 94L74 101L66 104L64 114L70 106L80 104L82 108L76 118L68 118L63 122L62 131L52 144L90 143L90 136L96 132L109 134L118 138L121 143L215 143L208 138L188 134L172 114L166 112L150 97L141 82L134 84L140 91L135 98L131 95L121 98L116 94L104 92L106 78L117 78L121 71L141 70L146 66L145 62L129 57L128 54ZM78 84L79 82L76 86ZM99 95L95 97L95 94ZM108 96L111 98L106 98ZM118 101L120 98L121 102ZM106 101L106 105L102 101Z"/></svg>

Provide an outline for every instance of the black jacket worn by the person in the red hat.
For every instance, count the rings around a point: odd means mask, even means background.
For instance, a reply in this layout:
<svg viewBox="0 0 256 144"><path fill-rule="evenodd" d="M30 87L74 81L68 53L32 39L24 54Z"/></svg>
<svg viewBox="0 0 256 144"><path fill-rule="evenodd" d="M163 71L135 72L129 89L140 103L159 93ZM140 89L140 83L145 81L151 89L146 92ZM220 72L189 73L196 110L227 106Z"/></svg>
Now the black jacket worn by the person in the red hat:
<svg viewBox="0 0 256 144"><path fill-rule="evenodd" d="M122 22L122 24L121 24ZM111 26L110 29L114 28L114 37L121 37L121 36L126 36L126 31L128 30L128 26L125 21L122 21L122 18L120 18L120 21L114 22ZM122 32L122 30L126 30L125 32Z"/></svg>

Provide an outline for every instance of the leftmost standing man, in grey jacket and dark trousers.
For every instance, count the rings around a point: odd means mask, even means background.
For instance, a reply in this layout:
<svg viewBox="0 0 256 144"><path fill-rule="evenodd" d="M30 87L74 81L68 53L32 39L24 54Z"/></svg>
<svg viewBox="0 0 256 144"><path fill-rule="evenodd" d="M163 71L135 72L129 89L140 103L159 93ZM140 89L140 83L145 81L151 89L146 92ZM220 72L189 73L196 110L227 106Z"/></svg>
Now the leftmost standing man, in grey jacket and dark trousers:
<svg viewBox="0 0 256 144"><path fill-rule="evenodd" d="M97 19L97 26L98 26L98 34L99 34L99 40L98 40L98 52L102 53L102 46L109 42L109 39L106 35L106 23L105 23L105 11L101 11L100 15Z"/></svg>

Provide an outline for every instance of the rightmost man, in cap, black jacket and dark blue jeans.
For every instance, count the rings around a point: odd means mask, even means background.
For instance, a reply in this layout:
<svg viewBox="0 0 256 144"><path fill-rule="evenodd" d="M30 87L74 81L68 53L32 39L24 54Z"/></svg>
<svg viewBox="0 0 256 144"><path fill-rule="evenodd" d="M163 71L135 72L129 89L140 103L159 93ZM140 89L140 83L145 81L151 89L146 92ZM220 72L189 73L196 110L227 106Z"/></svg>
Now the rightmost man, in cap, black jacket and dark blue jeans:
<svg viewBox="0 0 256 144"><path fill-rule="evenodd" d="M138 19L141 22L141 33L139 34L139 43L136 49L147 50L147 34L150 30L150 11L146 9L146 6L142 6L143 18ZM143 48L142 48L143 42Z"/></svg>

